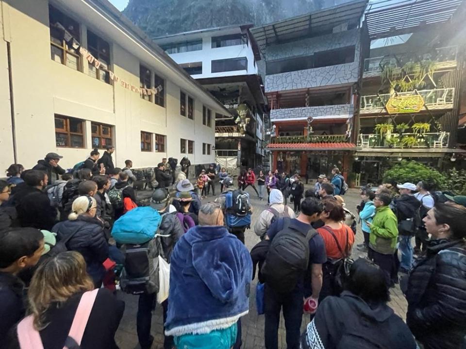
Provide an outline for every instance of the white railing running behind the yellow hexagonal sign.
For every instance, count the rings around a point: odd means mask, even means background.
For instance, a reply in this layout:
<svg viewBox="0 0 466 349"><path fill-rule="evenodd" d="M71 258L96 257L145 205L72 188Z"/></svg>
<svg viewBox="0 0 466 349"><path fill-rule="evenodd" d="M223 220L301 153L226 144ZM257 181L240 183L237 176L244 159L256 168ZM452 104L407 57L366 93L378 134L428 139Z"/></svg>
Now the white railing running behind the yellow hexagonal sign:
<svg viewBox="0 0 466 349"><path fill-rule="evenodd" d="M421 95L424 99L424 104L429 106L443 106L453 103L455 94L454 88L420 90L410 92L399 92L398 94L383 94L383 95L364 95L361 96L361 110L383 109L390 97L399 95Z"/></svg>

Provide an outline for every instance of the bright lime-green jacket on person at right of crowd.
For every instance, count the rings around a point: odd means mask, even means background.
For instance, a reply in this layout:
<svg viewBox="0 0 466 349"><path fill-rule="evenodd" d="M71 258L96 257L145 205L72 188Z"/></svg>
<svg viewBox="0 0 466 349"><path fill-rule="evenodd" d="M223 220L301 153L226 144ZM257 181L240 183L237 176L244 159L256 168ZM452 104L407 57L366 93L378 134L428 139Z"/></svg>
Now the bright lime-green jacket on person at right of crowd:
<svg viewBox="0 0 466 349"><path fill-rule="evenodd" d="M397 241L397 216L388 206L377 207L370 226L369 247L381 254L394 254Z"/></svg>

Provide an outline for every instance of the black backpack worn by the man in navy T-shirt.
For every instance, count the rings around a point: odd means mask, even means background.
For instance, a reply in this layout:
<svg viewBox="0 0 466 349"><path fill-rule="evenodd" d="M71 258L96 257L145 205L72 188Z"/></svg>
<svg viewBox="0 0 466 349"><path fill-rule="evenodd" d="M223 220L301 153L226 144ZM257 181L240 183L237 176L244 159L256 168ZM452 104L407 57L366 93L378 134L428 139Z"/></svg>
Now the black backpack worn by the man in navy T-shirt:
<svg viewBox="0 0 466 349"><path fill-rule="evenodd" d="M266 284L280 293L291 292L309 265L309 240L317 235L310 227L304 235L283 219L283 229L273 238L261 275Z"/></svg>

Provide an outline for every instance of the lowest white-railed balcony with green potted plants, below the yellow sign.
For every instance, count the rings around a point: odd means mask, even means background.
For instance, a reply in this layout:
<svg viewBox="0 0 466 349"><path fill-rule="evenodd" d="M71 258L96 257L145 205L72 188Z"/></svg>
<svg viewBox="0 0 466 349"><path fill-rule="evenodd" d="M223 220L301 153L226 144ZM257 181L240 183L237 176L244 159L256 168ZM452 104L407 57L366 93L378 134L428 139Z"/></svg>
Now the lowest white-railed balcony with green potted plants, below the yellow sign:
<svg viewBox="0 0 466 349"><path fill-rule="evenodd" d="M401 136L392 134L391 137L382 137L380 134L360 134L358 148L448 148L450 134L448 132L436 133L403 133Z"/></svg>

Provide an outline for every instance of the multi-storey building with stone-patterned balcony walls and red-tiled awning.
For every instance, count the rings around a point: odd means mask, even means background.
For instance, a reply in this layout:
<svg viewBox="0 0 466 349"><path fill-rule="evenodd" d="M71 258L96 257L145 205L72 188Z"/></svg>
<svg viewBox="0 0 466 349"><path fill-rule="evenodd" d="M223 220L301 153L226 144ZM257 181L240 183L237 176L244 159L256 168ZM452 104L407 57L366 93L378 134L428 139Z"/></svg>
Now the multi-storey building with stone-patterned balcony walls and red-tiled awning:
<svg viewBox="0 0 466 349"><path fill-rule="evenodd" d="M272 168L316 178L346 175L361 76L361 16L353 1L254 28L266 61Z"/></svg>

